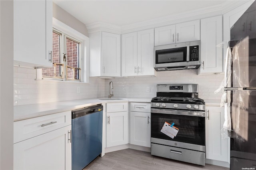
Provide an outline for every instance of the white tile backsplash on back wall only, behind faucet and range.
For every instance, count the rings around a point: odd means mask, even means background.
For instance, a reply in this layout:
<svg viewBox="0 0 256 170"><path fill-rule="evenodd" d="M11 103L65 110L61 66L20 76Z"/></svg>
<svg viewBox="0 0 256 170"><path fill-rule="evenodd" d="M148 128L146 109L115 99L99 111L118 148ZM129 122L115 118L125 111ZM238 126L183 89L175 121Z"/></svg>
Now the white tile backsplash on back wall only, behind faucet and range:
<svg viewBox="0 0 256 170"><path fill-rule="evenodd" d="M197 75L196 69L158 71L156 77L135 77L105 80L105 96L108 96L109 81L114 84L114 97L156 97L156 85L165 83L195 83L199 85L199 97L202 99L221 99L221 93L214 94L224 79L219 75ZM146 87L150 87L150 93Z"/></svg>

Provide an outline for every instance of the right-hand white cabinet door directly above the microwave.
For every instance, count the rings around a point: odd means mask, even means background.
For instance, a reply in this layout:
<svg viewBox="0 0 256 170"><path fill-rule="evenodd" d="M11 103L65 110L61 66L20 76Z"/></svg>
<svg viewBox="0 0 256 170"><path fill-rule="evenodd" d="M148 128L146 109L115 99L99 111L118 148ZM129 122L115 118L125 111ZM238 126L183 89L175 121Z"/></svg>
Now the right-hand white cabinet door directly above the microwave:
<svg viewBox="0 0 256 170"><path fill-rule="evenodd" d="M200 20L176 24L176 43L200 40Z"/></svg>

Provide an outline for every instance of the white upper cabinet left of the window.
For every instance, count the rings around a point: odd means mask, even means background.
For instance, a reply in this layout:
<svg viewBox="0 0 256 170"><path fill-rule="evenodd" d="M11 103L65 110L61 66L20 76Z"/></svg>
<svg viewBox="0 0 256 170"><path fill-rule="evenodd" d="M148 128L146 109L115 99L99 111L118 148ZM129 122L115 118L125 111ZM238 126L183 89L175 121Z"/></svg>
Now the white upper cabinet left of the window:
<svg viewBox="0 0 256 170"><path fill-rule="evenodd" d="M14 5L14 64L52 67L52 1Z"/></svg>

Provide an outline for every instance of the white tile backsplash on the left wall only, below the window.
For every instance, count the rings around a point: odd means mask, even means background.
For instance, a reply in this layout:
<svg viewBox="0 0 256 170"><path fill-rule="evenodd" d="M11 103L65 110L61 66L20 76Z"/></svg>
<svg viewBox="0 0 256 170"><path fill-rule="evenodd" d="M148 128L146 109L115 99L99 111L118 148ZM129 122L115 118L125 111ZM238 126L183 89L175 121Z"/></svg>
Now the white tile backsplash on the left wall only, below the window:
<svg viewBox="0 0 256 170"><path fill-rule="evenodd" d="M14 67L14 106L104 96L104 79L90 77L90 83L36 81L36 69ZM80 93L76 92L77 86Z"/></svg>

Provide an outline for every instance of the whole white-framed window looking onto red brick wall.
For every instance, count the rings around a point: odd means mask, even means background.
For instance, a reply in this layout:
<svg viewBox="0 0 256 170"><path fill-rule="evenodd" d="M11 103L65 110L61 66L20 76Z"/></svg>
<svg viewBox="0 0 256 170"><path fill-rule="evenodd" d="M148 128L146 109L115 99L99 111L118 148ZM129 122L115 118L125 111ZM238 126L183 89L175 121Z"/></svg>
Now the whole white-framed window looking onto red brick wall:
<svg viewBox="0 0 256 170"><path fill-rule="evenodd" d="M88 83L88 46L88 37L53 18L52 67L38 69L37 79Z"/></svg>

